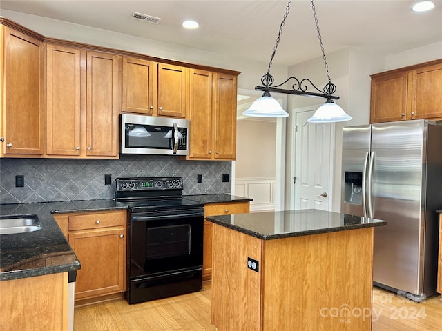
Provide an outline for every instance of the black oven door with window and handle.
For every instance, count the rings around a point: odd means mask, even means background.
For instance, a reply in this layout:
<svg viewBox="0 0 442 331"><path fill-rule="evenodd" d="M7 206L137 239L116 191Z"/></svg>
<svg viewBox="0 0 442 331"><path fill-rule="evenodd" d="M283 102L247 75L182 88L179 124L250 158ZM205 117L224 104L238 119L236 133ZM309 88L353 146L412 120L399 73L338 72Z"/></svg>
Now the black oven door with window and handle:
<svg viewBox="0 0 442 331"><path fill-rule="evenodd" d="M130 277L202 267L204 210L132 213Z"/></svg>

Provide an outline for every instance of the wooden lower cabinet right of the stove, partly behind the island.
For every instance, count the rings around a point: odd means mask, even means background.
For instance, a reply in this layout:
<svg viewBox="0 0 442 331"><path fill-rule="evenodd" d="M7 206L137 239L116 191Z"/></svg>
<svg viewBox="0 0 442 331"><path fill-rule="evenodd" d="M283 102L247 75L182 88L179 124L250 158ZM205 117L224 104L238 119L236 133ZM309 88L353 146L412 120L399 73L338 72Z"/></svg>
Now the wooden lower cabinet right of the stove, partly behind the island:
<svg viewBox="0 0 442 331"><path fill-rule="evenodd" d="M210 203L204 205L204 217L215 215L244 214L250 212L249 201L233 203ZM202 280L212 278L213 223L204 219L204 247L202 255Z"/></svg>

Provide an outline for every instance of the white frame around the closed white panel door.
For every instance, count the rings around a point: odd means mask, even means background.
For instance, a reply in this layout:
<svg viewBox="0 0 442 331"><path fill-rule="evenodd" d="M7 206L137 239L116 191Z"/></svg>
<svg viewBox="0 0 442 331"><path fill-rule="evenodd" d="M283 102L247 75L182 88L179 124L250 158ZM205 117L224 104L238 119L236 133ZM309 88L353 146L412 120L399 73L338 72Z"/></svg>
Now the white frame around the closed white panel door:
<svg viewBox="0 0 442 331"><path fill-rule="evenodd" d="M305 106L300 108L294 108L291 112L291 119L290 119L290 125L293 130L291 130L288 134L287 139L290 141L290 146L293 148L291 152L291 158L290 158L290 165L289 165L289 180L287 181L287 185L290 185L290 188L288 190L290 199L289 199L289 208L290 210L295 209L295 184L294 184L294 177L295 177L295 168L296 168L296 114L298 112L308 112L312 110L317 110L320 106L322 106L322 103L312 106ZM330 146L332 146L332 152L330 152L331 162L329 167L329 211L333 210L334 206L334 163L336 161L336 123L332 123L332 139L330 141ZM302 157L302 156L301 156ZM286 203L287 203L286 199Z"/></svg>

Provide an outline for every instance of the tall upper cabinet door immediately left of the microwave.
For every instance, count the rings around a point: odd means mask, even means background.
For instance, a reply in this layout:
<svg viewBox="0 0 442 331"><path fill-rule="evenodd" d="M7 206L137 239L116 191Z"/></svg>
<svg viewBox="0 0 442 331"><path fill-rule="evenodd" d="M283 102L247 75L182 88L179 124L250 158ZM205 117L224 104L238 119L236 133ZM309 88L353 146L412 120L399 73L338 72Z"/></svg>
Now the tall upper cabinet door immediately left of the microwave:
<svg viewBox="0 0 442 331"><path fill-rule="evenodd" d="M86 53L86 155L117 156L118 57Z"/></svg>

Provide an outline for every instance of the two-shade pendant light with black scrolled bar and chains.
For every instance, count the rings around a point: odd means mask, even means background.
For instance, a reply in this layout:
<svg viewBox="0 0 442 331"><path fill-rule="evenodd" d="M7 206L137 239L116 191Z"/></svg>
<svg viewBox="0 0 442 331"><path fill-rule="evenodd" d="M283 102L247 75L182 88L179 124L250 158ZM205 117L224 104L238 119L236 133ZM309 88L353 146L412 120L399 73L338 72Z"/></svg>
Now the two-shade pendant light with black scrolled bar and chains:
<svg viewBox="0 0 442 331"><path fill-rule="evenodd" d="M289 77L282 83L273 86L274 78L270 74L270 67L272 65L273 57L275 57L276 50L278 49L278 45L280 42L280 36L282 34L282 28L285 25L285 19L290 12L290 3L292 0L288 0L287 7L285 9L284 18L280 24L278 38L276 38L276 45L273 48L273 52L271 54L271 58L269 61L269 66L267 68L267 72L261 77L262 86L256 86L255 90L264 91L262 97L258 98L255 102L252 103L249 109L247 109L242 114L245 116L253 116L253 117L287 117L289 114L282 109L278 101L271 97L270 92L284 93L284 94L294 94L294 95L304 95L307 97L320 97L325 98L327 101L323 106L320 106L318 110L316 110L315 114L308 119L307 121L311 123L329 123L329 122L338 122L338 121L349 121L352 119L351 116L346 114L340 106L336 105L333 100L338 100L339 97L336 95L332 95L336 92L336 86L332 83L332 79L330 78L330 73L328 69L327 59L325 58L325 50L323 46L323 40L320 35L318 17L316 16L316 8L314 6L313 0L311 0L311 8L313 10L314 19L316 23L316 30L318 31L318 39L320 41L320 49L323 52L323 59L325 63L325 70L327 72L328 83L325 84L323 90L318 89L314 83L311 82L310 79L297 79L296 77ZM291 84L291 90L287 90L284 88L280 88L285 85L288 81L294 80L294 83ZM307 85L311 86L318 92L307 92Z"/></svg>

